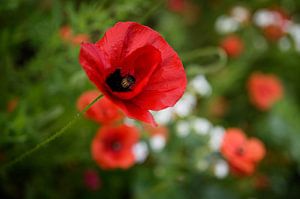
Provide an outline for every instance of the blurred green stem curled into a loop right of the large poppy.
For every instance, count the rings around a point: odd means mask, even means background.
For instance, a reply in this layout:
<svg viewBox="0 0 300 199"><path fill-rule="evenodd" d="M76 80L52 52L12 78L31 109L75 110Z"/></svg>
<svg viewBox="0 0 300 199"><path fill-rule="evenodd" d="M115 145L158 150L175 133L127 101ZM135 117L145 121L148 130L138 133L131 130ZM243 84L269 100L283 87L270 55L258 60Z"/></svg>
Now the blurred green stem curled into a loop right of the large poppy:
<svg viewBox="0 0 300 199"><path fill-rule="evenodd" d="M227 55L222 48L207 47L196 49L180 55L182 61L195 63L197 67L190 67L187 71L189 76L199 73L215 72L223 68L227 63Z"/></svg>

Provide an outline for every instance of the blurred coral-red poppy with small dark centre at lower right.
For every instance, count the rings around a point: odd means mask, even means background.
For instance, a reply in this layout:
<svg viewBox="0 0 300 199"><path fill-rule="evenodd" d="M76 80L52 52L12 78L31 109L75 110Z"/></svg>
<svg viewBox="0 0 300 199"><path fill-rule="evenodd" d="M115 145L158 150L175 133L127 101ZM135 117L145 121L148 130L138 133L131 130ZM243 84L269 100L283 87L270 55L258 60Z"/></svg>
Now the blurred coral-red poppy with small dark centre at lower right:
<svg viewBox="0 0 300 199"><path fill-rule="evenodd" d="M260 140L247 139L241 129L229 128L223 137L221 153L228 160L234 173L251 175L266 151Z"/></svg>

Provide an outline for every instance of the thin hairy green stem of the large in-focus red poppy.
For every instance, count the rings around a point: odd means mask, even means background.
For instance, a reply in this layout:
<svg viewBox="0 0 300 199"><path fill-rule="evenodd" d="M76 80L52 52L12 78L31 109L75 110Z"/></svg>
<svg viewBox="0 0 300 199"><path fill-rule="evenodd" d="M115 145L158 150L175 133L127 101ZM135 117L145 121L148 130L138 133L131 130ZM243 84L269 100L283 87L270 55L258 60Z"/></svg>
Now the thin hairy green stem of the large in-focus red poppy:
<svg viewBox="0 0 300 199"><path fill-rule="evenodd" d="M82 111L76 113L76 115L73 117L71 121L69 121L63 128L61 128L59 131L53 133L48 138L37 144L35 147L31 148L30 150L26 151L25 153L19 155L12 161L8 162L2 167L2 172L6 170L7 168L15 165L16 163L22 161L26 157L30 156L32 153L38 151L41 147L46 146L56 138L60 137L63 133L65 133L77 120L79 120L82 115L89 109L93 104L95 104L101 97L103 97L102 94L100 94L98 97L96 97L90 104L88 104Z"/></svg>

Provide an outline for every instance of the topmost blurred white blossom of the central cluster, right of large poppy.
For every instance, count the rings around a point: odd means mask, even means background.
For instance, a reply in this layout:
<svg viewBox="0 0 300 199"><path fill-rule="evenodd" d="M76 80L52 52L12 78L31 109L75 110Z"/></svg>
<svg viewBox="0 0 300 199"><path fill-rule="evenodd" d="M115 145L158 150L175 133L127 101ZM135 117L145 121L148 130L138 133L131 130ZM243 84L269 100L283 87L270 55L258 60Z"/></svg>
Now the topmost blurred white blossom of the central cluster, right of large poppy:
<svg viewBox="0 0 300 199"><path fill-rule="evenodd" d="M198 75L191 81L191 87L201 96L210 96L212 89L203 75Z"/></svg>

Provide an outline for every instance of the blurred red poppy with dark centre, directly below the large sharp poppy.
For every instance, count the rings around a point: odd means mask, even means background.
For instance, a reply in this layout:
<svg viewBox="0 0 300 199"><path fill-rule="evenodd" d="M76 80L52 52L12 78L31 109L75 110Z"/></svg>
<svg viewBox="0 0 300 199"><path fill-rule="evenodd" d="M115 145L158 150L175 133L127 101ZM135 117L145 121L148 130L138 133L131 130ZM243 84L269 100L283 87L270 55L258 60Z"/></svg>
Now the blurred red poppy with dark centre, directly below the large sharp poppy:
<svg viewBox="0 0 300 199"><path fill-rule="evenodd" d="M138 138L135 127L102 127L92 143L93 159L103 169L127 169L135 163L133 146Z"/></svg>

